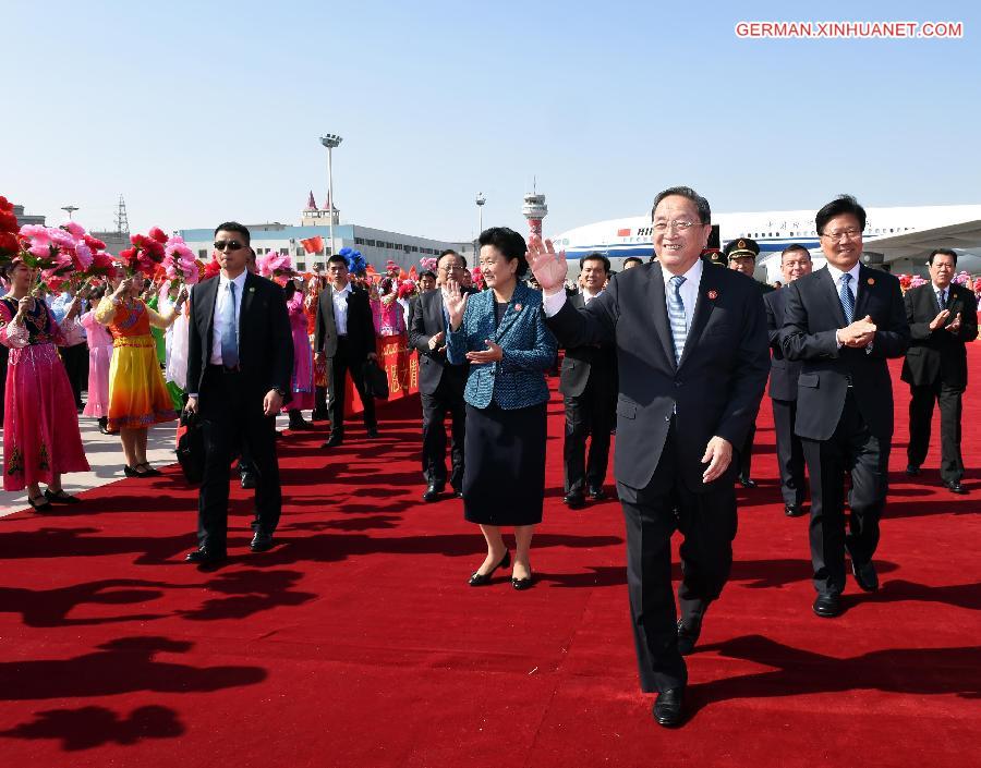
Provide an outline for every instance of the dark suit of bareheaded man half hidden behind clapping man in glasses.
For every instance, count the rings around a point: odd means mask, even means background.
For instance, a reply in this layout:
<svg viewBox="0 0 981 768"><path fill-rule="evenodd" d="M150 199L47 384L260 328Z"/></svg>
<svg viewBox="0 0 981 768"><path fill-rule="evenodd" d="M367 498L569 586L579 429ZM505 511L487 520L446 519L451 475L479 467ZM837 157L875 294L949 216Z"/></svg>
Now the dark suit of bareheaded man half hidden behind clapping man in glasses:
<svg viewBox="0 0 981 768"><path fill-rule="evenodd" d="M776 431L777 465L780 470L780 493L784 503L800 507L804 502L803 446L794 431L797 419L797 379L801 363L784 357L780 346L780 329L784 327L784 307L787 290L780 289L763 295L766 305L766 327L770 331L770 402L773 405L773 426Z"/></svg>

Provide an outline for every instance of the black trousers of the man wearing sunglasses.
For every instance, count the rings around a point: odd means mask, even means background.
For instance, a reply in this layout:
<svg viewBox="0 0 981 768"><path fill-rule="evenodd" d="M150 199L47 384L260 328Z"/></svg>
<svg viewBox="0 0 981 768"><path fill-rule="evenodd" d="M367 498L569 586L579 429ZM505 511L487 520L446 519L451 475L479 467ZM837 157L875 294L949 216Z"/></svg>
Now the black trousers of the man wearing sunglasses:
<svg viewBox="0 0 981 768"><path fill-rule="evenodd" d="M208 367L201 387L205 471L197 500L197 541L213 552L226 551L229 466L243 446L255 473L254 527L271 535L282 510L276 419L263 414L262 395L250 397L245 389L239 374L220 366Z"/></svg>

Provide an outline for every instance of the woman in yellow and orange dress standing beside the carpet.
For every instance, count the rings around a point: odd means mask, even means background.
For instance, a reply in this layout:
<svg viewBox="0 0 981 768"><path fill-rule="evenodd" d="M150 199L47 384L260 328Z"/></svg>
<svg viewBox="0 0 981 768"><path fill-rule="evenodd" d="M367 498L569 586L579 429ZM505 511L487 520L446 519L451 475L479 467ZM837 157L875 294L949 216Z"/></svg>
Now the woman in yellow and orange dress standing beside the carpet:
<svg viewBox="0 0 981 768"><path fill-rule="evenodd" d="M147 430L154 424L174 420L177 412L160 374L150 326L170 326L187 297L186 291L182 290L173 308L161 316L140 298L142 289L141 276L128 278L96 308L96 319L112 334L109 431L120 434L126 458L123 467L126 477L160 474L146 460Z"/></svg>

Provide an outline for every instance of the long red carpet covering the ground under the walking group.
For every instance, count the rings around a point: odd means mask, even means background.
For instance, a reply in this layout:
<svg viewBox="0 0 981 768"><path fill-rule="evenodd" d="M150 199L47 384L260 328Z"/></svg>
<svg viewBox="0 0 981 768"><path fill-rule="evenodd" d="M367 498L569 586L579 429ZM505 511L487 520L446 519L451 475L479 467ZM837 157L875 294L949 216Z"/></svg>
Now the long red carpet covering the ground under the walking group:
<svg viewBox="0 0 981 768"><path fill-rule="evenodd" d="M971 350L972 393L981 348ZM895 366L898 370L898 366ZM9 766L907 766L977 763L981 742L981 407L966 401L968 497L937 488L937 450L903 473L896 377L883 588L811 613L806 519L783 515L770 402L742 492L732 580L690 658L678 731L639 693L615 501L569 512L550 405L537 585L467 577L483 558L460 502L423 504L419 405L383 439L281 441L279 546L184 565L196 495L177 467L0 520L0 754ZM934 427L934 444L938 442Z"/></svg>

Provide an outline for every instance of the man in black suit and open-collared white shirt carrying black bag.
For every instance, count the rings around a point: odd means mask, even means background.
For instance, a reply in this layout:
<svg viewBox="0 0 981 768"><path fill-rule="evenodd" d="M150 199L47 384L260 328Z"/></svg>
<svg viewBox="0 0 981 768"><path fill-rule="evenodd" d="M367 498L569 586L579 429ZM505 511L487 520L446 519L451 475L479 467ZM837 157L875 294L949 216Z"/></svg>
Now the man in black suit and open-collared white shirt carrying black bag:
<svg viewBox="0 0 981 768"><path fill-rule="evenodd" d="M336 448L344 439L344 388L350 373L364 405L364 427L370 438L378 437L375 400L365 392L363 367L376 359L375 322L367 292L354 288L348 278L343 256L327 259L327 287L320 291L314 351L327 359L327 413L330 437L320 448Z"/></svg>

